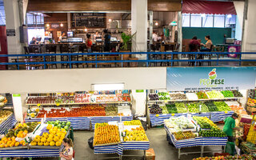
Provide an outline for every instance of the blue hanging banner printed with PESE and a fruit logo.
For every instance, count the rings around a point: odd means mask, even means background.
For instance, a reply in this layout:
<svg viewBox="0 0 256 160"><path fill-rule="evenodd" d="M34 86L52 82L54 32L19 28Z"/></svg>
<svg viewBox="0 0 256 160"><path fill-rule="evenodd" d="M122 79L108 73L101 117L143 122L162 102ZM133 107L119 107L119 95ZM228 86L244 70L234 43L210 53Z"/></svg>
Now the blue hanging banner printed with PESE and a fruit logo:
<svg viewBox="0 0 256 160"><path fill-rule="evenodd" d="M168 91L247 90L255 87L256 67L170 67L166 78Z"/></svg>

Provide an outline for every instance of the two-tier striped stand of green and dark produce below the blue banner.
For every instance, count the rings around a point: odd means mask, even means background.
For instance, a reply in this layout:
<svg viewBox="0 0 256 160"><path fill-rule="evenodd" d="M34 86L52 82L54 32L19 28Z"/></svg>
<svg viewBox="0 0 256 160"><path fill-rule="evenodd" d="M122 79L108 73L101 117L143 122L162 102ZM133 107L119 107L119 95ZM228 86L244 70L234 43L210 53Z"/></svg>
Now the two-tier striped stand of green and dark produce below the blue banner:
<svg viewBox="0 0 256 160"><path fill-rule="evenodd" d="M158 92L158 90L155 90ZM242 99L238 90L198 92L158 92L148 95L148 118L150 126L161 126L165 119L191 114L210 118L213 122L230 117L230 106ZM238 103L239 104L239 103Z"/></svg>

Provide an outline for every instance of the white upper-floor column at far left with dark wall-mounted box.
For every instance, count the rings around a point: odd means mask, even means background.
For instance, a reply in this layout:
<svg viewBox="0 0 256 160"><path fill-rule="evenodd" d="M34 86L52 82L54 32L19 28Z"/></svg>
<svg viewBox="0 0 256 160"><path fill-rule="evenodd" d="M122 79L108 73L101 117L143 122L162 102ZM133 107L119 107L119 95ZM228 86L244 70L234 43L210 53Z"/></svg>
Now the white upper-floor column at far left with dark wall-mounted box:
<svg viewBox="0 0 256 160"><path fill-rule="evenodd" d="M4 0L6 12L6 30L15 30L15 36L7 36L8 54L22 54L22 44L19 41L19 10L18 0Z"/></svg>

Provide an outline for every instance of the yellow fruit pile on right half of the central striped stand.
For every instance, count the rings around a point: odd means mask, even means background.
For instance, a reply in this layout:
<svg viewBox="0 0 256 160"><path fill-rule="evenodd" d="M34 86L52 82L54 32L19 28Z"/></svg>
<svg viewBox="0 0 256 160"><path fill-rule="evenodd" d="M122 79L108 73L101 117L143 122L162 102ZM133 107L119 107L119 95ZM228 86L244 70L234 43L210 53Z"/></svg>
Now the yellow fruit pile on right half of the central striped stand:
<svg viewBox="0 0 256 160"><path fill-rule="evenodd" d="M146 132L143 129L142 126L139 126L135 129L131 130L124 130L125 137L123 140L126 141L149 141L149 139L146 137Z"/></svg>

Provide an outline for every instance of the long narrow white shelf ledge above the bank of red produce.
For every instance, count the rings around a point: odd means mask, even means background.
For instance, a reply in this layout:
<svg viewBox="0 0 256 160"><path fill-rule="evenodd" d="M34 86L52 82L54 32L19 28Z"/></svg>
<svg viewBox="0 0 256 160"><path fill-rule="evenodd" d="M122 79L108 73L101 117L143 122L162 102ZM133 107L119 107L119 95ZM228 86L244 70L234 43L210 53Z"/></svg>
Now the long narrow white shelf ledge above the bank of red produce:
<svg viewBox="0 0 256 160"><path fill-rule="evenodd" d="M92 105L92 104L113 104L113 103L131 103L131 102L74 102L74 103L40 103L40 106L67 106L67 105ZM38 103L39 104L39 103ZM38 104L28 104L26 103L26 106L37 106Z"/></svg>

